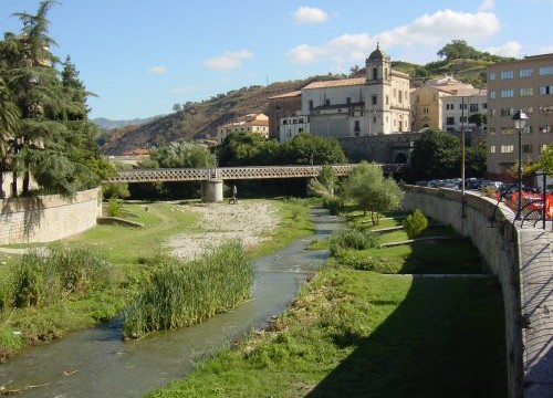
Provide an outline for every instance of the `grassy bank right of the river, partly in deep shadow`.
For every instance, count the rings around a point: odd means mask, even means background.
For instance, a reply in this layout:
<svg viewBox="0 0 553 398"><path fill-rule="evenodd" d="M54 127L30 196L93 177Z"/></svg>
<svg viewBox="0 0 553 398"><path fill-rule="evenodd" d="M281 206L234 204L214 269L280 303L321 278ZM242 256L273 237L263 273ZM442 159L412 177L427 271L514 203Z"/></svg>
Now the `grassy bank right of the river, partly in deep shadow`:
<svg viewBox="0 0 553 398"><path fill-rule="evenodd" d="M349 220L365 226L363 221ZM448 229L442 233L451 235ZM480 269L470 245L446 244L448 255L439 262L432 259L436 243L406 247L351 251L351 258L378 252L400 264L387 274L332 259L271 327L253 332L148 397L504 397L503 305L497 279L397 274L415 254L413 269L420 274L466 272L468 259L476 261L470 272ZM470 255L458 255L459 249Z"/></svg>

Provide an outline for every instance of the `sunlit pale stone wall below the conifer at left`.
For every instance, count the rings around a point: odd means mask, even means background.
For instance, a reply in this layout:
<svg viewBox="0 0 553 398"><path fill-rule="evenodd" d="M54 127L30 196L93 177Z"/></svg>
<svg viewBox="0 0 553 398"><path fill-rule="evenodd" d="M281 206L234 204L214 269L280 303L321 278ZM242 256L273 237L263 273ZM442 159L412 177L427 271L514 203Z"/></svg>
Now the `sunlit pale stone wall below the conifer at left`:
<svg viewBox="0 0 553 398"><path fill-rule="evenodd" d="M0 201L0 244L51 242L96 224L102 213L100 189L59 195L11 198Z"/></svg>

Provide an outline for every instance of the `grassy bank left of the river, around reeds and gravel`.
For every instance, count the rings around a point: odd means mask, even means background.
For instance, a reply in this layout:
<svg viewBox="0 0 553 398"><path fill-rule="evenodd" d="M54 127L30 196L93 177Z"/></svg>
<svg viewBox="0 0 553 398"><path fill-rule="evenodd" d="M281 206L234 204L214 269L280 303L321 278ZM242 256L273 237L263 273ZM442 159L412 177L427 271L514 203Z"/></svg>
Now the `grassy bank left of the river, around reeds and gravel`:
<svg viewBox="0 0 553 398"><path fill-rule="evenodd" d="M248 203L250 201L241 201ZM296 238L313 232L309 210L304 202L294 200L267 201L274 209L280 222L275 229L263 233L265 241L251 248L250 255L261 255L284 247ZM199 203L133 202L124 205L125 217L144 224L144 228L97 226L64 244L86 247L91 255L107 261L109 283L103 289L75 295L62 294L48 305L14 307L2 301L0 312L0 358L8 358L28 345L56 339L69 332L93 326L121 313L129 303L144 279L153 271L153 261L169 249L164 245L177 234L205 232L199 216L189 209ZM236 209L238 211L237 205ZM255 214L251 214L255 217ZM18 245L21 247L21 245ZM12 270L20 255L4 255L0 266L2 290L10 290ZM0 292L2 293L2 292ZM0 296L6 296L0 294Z"/></svg>

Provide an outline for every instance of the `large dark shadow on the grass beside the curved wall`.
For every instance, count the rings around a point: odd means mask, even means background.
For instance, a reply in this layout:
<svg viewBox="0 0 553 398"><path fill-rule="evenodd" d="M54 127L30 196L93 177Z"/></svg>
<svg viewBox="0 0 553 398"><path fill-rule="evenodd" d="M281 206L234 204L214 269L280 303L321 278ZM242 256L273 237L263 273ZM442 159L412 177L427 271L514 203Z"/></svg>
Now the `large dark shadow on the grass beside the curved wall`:
<svg viewBox="0 0 553 398"><path fill-rule="evenodd" d="M405 300L368 337L336 337L338 346L355 349L307 397L503 398L503 322L494 277L415 276Z"/></svg>

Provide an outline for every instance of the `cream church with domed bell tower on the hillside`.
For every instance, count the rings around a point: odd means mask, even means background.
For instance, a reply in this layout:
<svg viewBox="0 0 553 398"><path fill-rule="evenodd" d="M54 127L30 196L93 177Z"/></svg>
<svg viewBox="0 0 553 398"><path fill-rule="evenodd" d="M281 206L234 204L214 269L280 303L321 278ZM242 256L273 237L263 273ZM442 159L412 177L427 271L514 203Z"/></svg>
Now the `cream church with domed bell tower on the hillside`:
<svg viewBox="0 0 553 398"><path fill-rule="evenodd" d="M313 82L303 87L301 109L280 121L280 140L299 132L335 138L407 133L409 88L409 76L392 70L389 56L377 45L365 62L364 77ZM302 126L294 128L294 121L302 121Z"/></svg>

